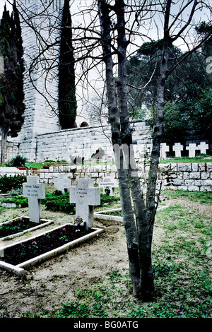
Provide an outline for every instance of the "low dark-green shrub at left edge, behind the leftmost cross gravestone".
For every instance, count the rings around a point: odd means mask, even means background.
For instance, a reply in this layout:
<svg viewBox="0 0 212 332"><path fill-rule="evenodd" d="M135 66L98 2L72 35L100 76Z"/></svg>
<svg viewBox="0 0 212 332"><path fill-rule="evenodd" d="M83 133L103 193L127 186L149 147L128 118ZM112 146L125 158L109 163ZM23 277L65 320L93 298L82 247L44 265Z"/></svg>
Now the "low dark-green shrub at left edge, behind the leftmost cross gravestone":
<svg viewBox="0 0 212 332"><path fill-rule="evenodd" d="M23 182L26 182L26 177L23 174L9 175L4 174L0 176L0 191L6 193L12 189L22 188Z"/></svg>

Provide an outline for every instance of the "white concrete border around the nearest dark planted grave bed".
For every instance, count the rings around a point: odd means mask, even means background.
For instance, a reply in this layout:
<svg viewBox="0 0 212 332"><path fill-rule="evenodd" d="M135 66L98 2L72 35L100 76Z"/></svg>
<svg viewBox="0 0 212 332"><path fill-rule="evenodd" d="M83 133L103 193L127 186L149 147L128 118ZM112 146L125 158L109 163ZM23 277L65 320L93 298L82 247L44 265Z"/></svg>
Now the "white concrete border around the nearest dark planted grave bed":
<svg viewBox="0 0 212 332"><path fill-rule="evenodd" d="M54 230L57 230L58 228L62 228L62 227L66 227L66 225L71 225L70 223L66 223L64 225L60 225L58 227L54 227L52 228L52 230L48 230L46 232L40 233L39 235L36 235L35 237L30 237L28 239L25 239L23 241L20 242L16 242L14 244L10 244L6 247L3 247L2 249L6 249L6 248L10 248L10 247L14 247L16 246L16 244L22 244L24 242L27 242L29 240L33 240L36 239L37 237L40 237L41 235L45 235L49 232L53 232ZM95 227L91 227L92 230L94 230L94 232L88 234L88 235L84 235L83 237L80 237L78 239L75 239L71 242L68 242L64 245L62 245L61 247L57 247L56 249L52 249L51 251L47 251L45 254L42 254L40 256L36 256L33 259L29 259L28 261L24 261L23 263L20 263L18 265L12 265L9 263L5 263L4 261L0 261L0 268L3 268L4 270L8 270L12 273L15 273L16 275L24 275L25 270L24 268L28 268L30 266L34 266L36 263L41 263L42 261L45 261L46 259L49 259L50 257L56 256L57 254L60 254L63 251L67 251L69 250L71 247L76 246L77 244L81 243L81 242L85 242L86 240L95 237L96 235L100 234L100 232L102 232L103 230L101 228L95 228Z"/></svg>

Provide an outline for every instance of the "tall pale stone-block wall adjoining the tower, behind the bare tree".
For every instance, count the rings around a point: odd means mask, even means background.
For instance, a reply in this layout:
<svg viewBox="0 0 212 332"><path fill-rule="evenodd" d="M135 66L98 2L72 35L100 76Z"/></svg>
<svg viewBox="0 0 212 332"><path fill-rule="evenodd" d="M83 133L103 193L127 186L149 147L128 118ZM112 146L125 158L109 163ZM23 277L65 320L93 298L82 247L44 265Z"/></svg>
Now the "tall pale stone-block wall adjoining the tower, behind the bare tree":
<svg viewBox="0 0 212 332"><path fill-rule="evenodd" d="M134 151L137 160L143 159L144 151L151 150L151 136L146 121L132 121ZM93 126L55 131L37 135L36 160L66 160L80 157L90 160L99 148L105 158L112 157L110 125Z"/></svg>

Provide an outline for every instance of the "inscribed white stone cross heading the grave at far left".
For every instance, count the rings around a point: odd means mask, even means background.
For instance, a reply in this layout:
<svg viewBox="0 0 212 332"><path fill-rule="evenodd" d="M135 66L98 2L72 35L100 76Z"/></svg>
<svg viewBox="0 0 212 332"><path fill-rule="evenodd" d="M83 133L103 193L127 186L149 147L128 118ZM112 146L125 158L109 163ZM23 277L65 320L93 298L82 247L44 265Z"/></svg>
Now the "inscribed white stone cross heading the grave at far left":
<svg viewBox="0 0 212 332"><path fill-rule="evenodd" d="M23 184L23 196L28 198L30 221L39 223L41 218L40 199L45 198L45 184L39 183L39 177L27 177L27 182Z"/></svg>

